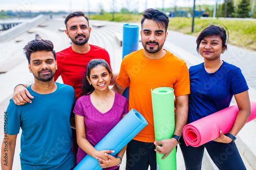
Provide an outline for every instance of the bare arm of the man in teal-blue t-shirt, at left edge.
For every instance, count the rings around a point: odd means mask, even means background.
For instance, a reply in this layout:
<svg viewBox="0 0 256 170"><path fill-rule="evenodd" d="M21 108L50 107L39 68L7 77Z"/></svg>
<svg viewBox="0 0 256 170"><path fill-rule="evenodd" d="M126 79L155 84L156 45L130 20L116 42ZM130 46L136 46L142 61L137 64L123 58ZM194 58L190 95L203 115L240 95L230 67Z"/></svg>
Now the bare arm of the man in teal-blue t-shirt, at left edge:
<svg viewBox="0 0 256 170"><path fill-rule="evenodd" d="M6 135L2 143L1 167L2 170L11 170L15 152L17 135Z"/></svg>

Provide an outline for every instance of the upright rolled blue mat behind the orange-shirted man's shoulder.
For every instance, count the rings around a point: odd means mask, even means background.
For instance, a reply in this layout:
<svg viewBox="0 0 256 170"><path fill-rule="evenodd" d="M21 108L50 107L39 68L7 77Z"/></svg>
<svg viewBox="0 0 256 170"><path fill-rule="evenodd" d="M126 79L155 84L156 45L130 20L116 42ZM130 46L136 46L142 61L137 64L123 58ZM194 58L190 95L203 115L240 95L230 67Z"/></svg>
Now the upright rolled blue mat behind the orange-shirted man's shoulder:
<svg viewBox="0 0 256 170"><path fill-rule="evenodd" d="M124 56L138 51L139 50L139 26L129 25L126 23L123 25L123 51L122 51L122 59ZM123 96L129 101L129 90L130 87L127 87Z"/></svg>

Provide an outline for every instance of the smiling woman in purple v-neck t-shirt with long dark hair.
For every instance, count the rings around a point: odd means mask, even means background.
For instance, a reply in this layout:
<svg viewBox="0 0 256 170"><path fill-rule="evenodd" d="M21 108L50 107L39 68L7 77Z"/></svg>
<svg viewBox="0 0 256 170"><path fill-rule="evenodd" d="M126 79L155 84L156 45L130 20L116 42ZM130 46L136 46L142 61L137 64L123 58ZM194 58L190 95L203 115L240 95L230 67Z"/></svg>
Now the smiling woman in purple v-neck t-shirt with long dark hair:
<svg viewBox="0 0 256 170"><path fill-rule="evenodd" d="M108 134L128 113L128 102L120 94L112 91L109 84L112 71L102 59L91 60L83 78L81 96L75 105L77 143L77 164L89 154L99 161L104 169L119 169L126 150L124 147L116 157L114 151L97 151L95 145Z"/></svg>

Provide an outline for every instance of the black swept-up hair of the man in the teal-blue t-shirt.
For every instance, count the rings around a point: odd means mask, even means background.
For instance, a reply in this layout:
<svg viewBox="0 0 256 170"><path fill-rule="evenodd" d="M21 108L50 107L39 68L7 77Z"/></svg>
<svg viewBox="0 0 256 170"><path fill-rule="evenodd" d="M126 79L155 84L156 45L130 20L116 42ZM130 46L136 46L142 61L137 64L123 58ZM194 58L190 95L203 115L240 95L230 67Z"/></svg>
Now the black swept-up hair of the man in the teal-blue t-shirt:
<svg viewBox="0 0 256 170"><path fill-rule="evenodd" d="M32 40L28 42L28 44L23 48L23 50L29 63L30 63L31 53L39 52L39 51L51 51L54 56L54 60L56 60L56 53L53 50L53 43L50 40L44 40L44 39Z"/></svg>

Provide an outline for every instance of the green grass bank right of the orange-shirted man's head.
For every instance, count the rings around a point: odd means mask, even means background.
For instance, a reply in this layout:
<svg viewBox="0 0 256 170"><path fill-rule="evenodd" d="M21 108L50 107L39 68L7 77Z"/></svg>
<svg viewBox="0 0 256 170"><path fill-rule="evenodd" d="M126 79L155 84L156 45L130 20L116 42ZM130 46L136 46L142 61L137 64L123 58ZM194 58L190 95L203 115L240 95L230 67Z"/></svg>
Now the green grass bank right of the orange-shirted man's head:
<svg viewBox="0 0 256 170"><path fill-rule="evenodd" d="M227 28L229 32L228 44L256 51L256 21L195 18L194 33L191 33L192 19L175 17L170 18L168 29L198 36L210 23L224 25Z"/></svg>

